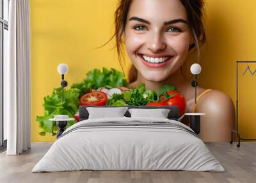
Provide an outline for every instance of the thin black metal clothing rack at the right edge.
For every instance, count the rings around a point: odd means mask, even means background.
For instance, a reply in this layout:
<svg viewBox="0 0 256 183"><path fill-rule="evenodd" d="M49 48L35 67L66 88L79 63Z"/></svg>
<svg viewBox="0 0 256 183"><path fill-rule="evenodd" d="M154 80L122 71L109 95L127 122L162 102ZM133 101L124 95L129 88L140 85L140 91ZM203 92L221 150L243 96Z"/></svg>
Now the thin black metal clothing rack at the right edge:
<svg viewBox="0 0 256 183"><path fill-rule="evenodd" d="M233 138L234 138L234 134L237 135L238 138L238 143L237 143L237 147L240 147L240 141L241 140L247 140L247 141L256 141L256 139L245 139L245 138L241 138L241 135L239 133L239 128L238 128L238 64L239 63L256 63L256 61L236 61L236 130L231 131L231 140L230 143L233 143Z"/></svg>

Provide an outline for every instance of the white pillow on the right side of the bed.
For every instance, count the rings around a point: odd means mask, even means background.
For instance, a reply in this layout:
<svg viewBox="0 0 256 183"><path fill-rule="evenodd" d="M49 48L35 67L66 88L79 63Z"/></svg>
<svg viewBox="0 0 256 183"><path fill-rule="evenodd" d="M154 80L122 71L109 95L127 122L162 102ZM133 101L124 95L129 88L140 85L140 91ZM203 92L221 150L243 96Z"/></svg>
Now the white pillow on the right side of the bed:
<svg viewBox="0 0 256 183"><path fill-rule="evenodd" d="M131 118L143 117L143 118L167 118L170 109L128 109L131 113Z"/></svg>

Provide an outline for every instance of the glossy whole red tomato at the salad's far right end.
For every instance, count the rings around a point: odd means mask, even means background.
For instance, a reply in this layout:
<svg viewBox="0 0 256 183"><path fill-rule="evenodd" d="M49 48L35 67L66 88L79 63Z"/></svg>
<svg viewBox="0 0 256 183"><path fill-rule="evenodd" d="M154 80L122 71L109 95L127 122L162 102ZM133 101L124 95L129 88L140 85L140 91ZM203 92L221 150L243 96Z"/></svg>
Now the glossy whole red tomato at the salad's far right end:
<svg viewBox="0 0 256 183"><path fill-rule="evenodd" d="M170 99L167 99L165 100L165 95L162 95L160 97L160 101L161 102L167 102L168 106L179 106L179 115L182 116L185 111L186 111L186 108L187 108L187 102L186 102L186 99L185 97L177 92L177 91L174 91L174 90L169 90L167 91L168 95L173 95L172 98Z"/></svg>

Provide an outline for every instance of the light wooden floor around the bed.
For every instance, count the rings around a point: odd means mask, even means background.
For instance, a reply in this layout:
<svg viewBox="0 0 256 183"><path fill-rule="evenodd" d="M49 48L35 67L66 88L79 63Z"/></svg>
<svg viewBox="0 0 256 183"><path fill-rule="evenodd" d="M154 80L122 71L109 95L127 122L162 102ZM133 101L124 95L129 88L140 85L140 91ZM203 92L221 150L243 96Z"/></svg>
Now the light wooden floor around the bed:
<svg viewBox="0 0 256 183"><path fill-rule="evenodd" d="M17 156L0 154L0 182L256 182L256 143L207 143L225 172L195 171L65 171L31 173L52 143L32 143L31 150Z"/></svg>

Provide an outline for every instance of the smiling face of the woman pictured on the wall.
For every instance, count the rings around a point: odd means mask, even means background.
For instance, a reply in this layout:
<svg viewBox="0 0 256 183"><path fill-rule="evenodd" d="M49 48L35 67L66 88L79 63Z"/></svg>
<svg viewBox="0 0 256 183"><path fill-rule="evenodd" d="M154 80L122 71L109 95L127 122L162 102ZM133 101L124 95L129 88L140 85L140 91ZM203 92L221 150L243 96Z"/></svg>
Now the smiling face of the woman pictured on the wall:
<svg viewBox="0 0 256 183"><path fill-rule="evenodd" d="M193 43L180 0L133 0L124 40L134 67L148 81L163 81L177 71Z"/></svg>

